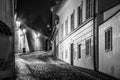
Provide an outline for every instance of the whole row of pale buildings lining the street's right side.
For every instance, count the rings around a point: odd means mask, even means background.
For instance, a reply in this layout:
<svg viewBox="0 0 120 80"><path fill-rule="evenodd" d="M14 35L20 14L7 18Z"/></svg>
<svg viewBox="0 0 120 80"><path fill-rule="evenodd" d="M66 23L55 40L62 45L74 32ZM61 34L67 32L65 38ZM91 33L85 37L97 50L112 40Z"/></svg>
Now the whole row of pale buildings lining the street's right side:
<svg viewBox="0 0 120 80"><path fill-rule="evenodd" d="M56 57L120 78L119 4L119 0L63 0L53 11L59 16L51 35Z"/></svg>

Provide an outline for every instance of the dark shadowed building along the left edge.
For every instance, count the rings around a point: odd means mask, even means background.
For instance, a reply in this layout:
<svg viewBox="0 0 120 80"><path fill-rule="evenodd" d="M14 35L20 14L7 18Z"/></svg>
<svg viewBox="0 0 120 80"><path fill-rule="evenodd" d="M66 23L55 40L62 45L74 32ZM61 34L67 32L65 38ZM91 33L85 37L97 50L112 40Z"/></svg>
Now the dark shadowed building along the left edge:
<svg viewBox="0 0 120 80"><path fill-rule="evenodd" d="M14 76L14 1L0 0L0 79Z"/></svg>

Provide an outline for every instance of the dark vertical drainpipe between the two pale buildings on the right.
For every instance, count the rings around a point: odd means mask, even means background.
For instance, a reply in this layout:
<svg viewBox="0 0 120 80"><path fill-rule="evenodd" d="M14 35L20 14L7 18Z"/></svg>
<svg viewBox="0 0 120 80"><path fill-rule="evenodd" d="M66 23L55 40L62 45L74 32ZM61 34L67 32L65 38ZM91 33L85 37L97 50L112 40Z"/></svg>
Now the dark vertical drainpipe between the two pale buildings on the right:
<svg viewBox="0 0 120 80"><path fill-rule="evenodd" d="M93 0L93 65L94 65L94 70L98 71L98 28L96 24L96 0Z"/></svg>

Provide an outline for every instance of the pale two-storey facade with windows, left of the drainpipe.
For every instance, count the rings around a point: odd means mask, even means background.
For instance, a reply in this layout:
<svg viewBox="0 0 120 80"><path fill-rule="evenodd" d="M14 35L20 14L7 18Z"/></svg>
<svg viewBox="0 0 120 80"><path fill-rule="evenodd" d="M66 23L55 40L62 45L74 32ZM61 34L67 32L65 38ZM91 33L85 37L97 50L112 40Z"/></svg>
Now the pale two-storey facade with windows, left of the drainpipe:
<svg viewBox="0 0 120 80"><path fill-rule="evenodd" d="M64 0L59 16L58 58L75 66L93 68L93 0Z"/></svg>

